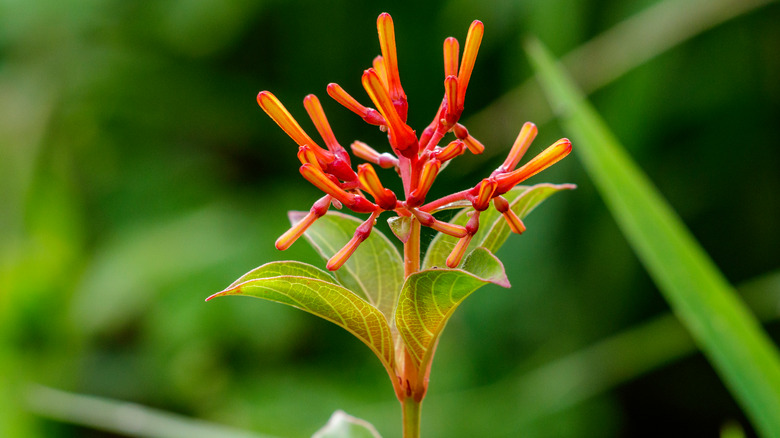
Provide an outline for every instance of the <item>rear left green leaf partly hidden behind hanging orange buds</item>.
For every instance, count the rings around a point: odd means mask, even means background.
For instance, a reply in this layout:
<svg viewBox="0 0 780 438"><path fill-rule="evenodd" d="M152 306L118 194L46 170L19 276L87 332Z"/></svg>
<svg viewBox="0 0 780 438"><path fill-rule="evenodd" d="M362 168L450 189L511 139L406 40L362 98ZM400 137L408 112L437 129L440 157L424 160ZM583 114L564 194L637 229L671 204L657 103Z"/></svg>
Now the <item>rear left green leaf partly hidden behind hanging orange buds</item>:
<svg viewBox="0 0 780 438"><path fill-rule="evenodd" d="M290 222L295 224L304 215L304 212L291 211ZM304 236L327 260L346 245L361 223L355 217L328 212L314 222ZM385 315L388 322L391 320L398 292L403 285L404 267L395 245L384 234L377 229L372 230L371 235L335 274L341 284L365 297Z"/></svg>

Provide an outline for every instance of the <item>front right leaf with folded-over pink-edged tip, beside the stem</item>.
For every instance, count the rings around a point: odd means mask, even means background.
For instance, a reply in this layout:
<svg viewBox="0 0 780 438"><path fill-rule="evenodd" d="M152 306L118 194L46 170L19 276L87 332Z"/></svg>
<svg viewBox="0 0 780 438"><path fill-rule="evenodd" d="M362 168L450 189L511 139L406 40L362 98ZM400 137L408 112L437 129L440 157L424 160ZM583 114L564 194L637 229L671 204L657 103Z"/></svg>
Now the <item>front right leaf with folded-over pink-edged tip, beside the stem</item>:
<svg viewBox="0 0 780 438"><path fill-rule="evenodd" d="M463 269L429 269L406 279L395 323L418 369L427 369L436 341L458 305L488 283L509 287L504 265L485 248L475 249Z"/></svg>

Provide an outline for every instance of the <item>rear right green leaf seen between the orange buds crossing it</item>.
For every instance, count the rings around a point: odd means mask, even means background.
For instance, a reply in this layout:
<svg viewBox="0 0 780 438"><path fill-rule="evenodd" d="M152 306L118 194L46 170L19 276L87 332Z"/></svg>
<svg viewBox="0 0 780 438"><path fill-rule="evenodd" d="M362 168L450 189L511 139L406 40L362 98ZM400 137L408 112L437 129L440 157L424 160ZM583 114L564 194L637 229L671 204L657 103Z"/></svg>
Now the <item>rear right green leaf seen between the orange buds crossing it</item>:
<svg viewBox="0 0 780 438"><path fill-rule="evenodd" d="M525 218L528 214L541 204L542 201L549 198L555 193L561 190L571 190L576 188L573 184L536 184L534 186L517 186L504 194L504 198L509 201L509 205L512 210L517 214L520 219ZM469 220L467 215L474 209L464 208L450 221L453 224L466 225ZM474 238L471 240L469 249L467 251L473 251L474 248L483 247L489 249L492 252L498 251L501 245L509 238L511 231L507 226L504 217L495 208L489 208L479 216L479 230ZM448 236L444 233L438 233L433 238L428 250L425 253L425 259L423 260L423 267L425 269L433 268L435 266L445 266L447 256L450 255L452 249L455 248L455 244L458 243L456 237ZM468 252L466 253L468 254Z"/></svg>

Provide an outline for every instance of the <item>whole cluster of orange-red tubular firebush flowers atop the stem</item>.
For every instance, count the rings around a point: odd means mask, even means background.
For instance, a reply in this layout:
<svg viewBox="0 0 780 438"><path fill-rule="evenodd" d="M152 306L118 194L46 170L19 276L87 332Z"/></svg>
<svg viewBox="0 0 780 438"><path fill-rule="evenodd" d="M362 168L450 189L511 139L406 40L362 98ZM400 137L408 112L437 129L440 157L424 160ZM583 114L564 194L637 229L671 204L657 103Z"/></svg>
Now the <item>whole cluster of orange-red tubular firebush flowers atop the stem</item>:
<svg viewBox="0 0 780 438"><path fill-rule="evenodd" d="M459 123L484 26L480 21L471 24L460 62L458 40L452 37L444 40L444 98L433 121L419 136L406 124L408 102L401 87L395 30L389 14L379 16L377 29L382 54L374 59L372 67L365 70L362 76L363 88L375 108L363 106L338 84L329 84L327 92L367 123L386 132L392 153L380 153L363 142L355 141L351 145L352 153L366 161L358 165L356 171L346 149L336 140L315 95L306 96L303 105L322 137L325 148L301 128L271 92L262 91L257 95L260 107L298 144L301 175L325 193L303 220L279 237L276 247L280 250L289 248L330 206L369 214L368 219L355 230L352 239L328 261L327 268L336 270L370 235L377 217L385 211L392 211L398 216L413 218L422 226L458 238L457 245L447 258L447 266L454 268L460 264L479 228L480 212L488 209L491 203L503 215L512 232L520 234L525 230L523 222L509 208L509 203L502 195L568 155L571 142L560 139L518 168L537 133L534 124L525 123L506 160L490 176L471 188L428 201L428 192L444 164L466 150L480 154L485 149ZM454 134L455 139L440 146L448 133ZM374 166L395 170L403 183L403 199L382 184ZM433 216L433 213L451 203L464 201L474 208L465 226L440 221Z"/></svg>

